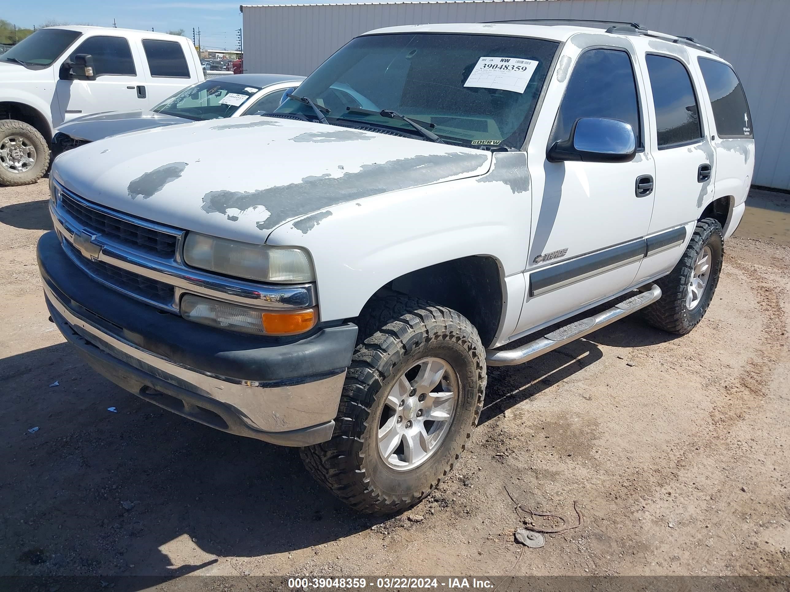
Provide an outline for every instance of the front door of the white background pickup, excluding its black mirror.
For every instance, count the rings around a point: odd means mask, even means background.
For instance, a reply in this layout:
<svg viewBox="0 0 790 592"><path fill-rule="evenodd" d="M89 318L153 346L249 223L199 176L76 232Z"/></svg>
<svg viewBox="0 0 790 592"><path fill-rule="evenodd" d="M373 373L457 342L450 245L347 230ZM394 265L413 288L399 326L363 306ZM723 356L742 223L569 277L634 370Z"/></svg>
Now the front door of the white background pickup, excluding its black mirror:
<svg viewBox="0 0 790 592"><path fill-rule="evenodd" d="M96 80L58 79L55 94L62 121L99 111L134 111L148 108L148 101L145 97L140 97L137 90L145 80L141 62L126 37L88 37L64 61L73 61L76 54L92 55Z"/></svg>

